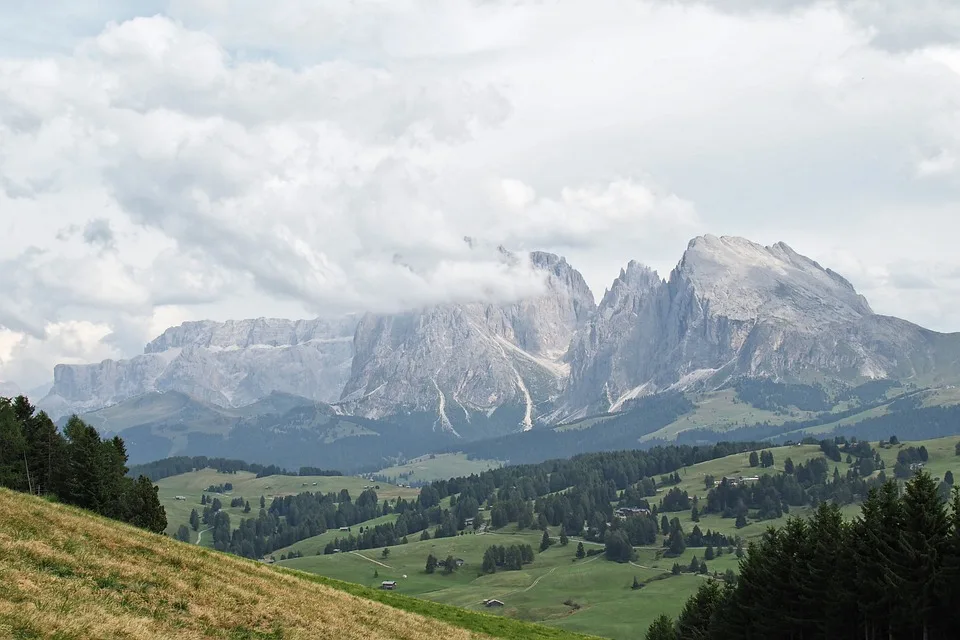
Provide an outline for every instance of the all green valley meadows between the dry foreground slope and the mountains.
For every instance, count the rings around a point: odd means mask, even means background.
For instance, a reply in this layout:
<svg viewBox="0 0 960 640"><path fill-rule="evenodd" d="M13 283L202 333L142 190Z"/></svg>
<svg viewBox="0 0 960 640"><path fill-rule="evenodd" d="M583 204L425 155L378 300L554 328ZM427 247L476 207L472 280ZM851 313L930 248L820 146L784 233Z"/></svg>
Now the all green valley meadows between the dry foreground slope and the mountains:
<svg viewBox="0 0 960 640"><path fill-rule="evenodd" d="M870 443L884 465L887 477L893 477L893 470L897 463L897 456L901 451L908 449L927 452L927 461L924 468L935 478L943 478L950 471L960 471L960 457L956 455L957 437L942 438L927 441L901 442L897 445L878 447L877 443ZM749 451L725 455L716 459L707 460L691 465L684 465L676 470L679 481L663 483L665 476L659 477L657 494L647 498L651 505L656 505L668 491L677 489L686 492L694 504L701 507L707 499L705 480L709 477L719 481L723 477L738 478L740 476L764 476L782 473L787 465L791 468L809 465L812 460L822 460L826 463L827 475L834 470L845 477L854 473L855 465L847 462L846 455L841 455L839 461L829 460L819 444L793 444L775 446L762 449L772 456L772 464L768 467L751 466ZM789 459L789 463L787 460ZM428 459L429 460L429 459ZM427 460L419 461L428 463ZM441 460L443 465L448 461ZM855 460L854 460L855 462ZM444 466L430 469L436 474ZM873 471L869 475L876 478L880 471ZM346 488L351 495L356 496L370 481L352 477L320 477L298 478L269 476L266 478L251 478L250 474L221 474L212 470L192 472L159 481L161 497L168 509L168 514L182 514L184 506L178 506L171 501L171 495L179 492L192 491L197 496L211 483L219 483L231 476L237 476L232 495L241 493L264 491L270 486L275 494L281 492L296 493L300 491L334 491ZM453 477L453 476L451 476ZM318 482L314 487L312 482ZM939 481L939 480L938 480ZM310 486L303 487L307 482ZM395 498L412 499L418 490L404 489L386 484L377 491L378 498L393 501ZM219 496L224 502L230 494ZM246 496L245 496L246 497ZM194 498L191 498L194 499ZM622 499L622 496L621 496ZM616 507L620 500L611 503ZM181 503L182 504L182 503ZM269 501L268 501L269 505ZM197 507L197 505L194 505ZM440 500L440 510L455 510L451 506L451 498ZM238 518L244 517L239 510L225 509L230 512L231 522L236 524ZM842 505L842 513L848 519L859 513L857 500ZM254 510L256 511L256 510ZM395 580L397 593L422 598L432 602L455 605L467 610L483 613L495 613L518 620L538 622L569 631L592 633L603 637L620 639L635 637L637 628L646 628L657 616L667 614L675 617L679 614L685 600L696 593L704 581L704 576L684 571L680 575L673 574L673 567L679 564L685 569L691 564L694 557L698 563L706 562L709 575L719 578L732 571L738 571L739 559L735 553L736 546L746 547L751 541L759 539L771 526L781 526L789 516L808 517L813 508L809 505L791 507L789 513L780 517L758 518L748 517L743 526L737 526L733 517L723 517L719 513L701 512L696 520L689 508L679 511L670 511L666 515L672 520L676 518L685 535L698 527L703 533L712 531L726 536L730 543L722 548L711 547L707 552L707 545L687 545L679 554L668 557L667 549L663 544L663 537L657 536L652 544L634 545L636 555L630 562L614 562L604 557L605 545L596 539L590 540L582 536L569 536L566 545L559 543L559 534L562 527L547 525L547 530L553 544L543 552L535 553L532 563L525 565L519 571L496 571L485 574L481 570L484 552L491 545L510 546L526 544L535 550L539 549L543 531L536 527L519 528L517 522L493 528L490 526L491 511L481 508L479 511L485 518L485 525L480 530L467 527L461 535L449 537L431 537L421 540L420 533L408 535L409 542L387 547L388 553L384 556L384 548L369 548L340 553L325 553L325 549L333 544L334 540L344 539L368 527L376 527L387 523L395 523L397 514L389 514L370 519L351 526L350 532L331 529L325 533L300 540L292 545L278 548L270 555L269 560L277 566L322 575L336 580L377 588L383 581ZM751 510L751 514L754 512ZM177 516L171 517L171 526ZM659 518L659 516L657 516ZM431 526L428 531L434 533ZM209 535L209 534L207 534ZM582 543L587 552L591 550L598 555L588 555L578 559L577 546ZM211 544L206 539L203 544ZM717 555L717 551L720 552ZM440 561L447 557L462 560L463 566L452 572L437 569L428 574L424 564L429 555ZM705 556L712 556L705 560ZM636 578L642 585L640 589L632 588ZM484 602L496 599L504 603L502 608L491 610Z"/></svg>

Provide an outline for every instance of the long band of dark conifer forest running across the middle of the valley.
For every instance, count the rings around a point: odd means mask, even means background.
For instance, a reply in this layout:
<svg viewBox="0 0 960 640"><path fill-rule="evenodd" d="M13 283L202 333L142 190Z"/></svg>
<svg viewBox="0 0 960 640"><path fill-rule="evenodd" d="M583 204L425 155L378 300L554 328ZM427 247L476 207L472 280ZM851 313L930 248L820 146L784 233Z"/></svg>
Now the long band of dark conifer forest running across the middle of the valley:
<svg viewBox="0 0 960 640"><path fill-rule="evenodd" d="M468 527L481 526L485 513L489 513L493 527L508 522L516 522L521 528L560 526L566 534L602 541L606 523L613 517L612 503L619 499L620 491L634 485L648 492L654 487L655 491L657 476L756 446L722 443L585 454L439 480L424 486L415 500L392 503L378 503L373 489L360 494L356 502L346 491L305 492L274 498L269 506L261 501L256 515L242 518L232 532L227 513L219 511L207 519L217 549L249 558L263 557L331 529L350 530L328 544L323 550L326 553L402 544L413 534L419 534L420 539L450 537ZM559 491L563 493L555 494ZM443 507L441 501L446 498L450 498L449 506ZM488 506L489 511L481 511L481 505ZM354 525L391 513L398 514L393 523L352 531ZM650 541L656 536L656 522L633 520L637 522L626 528L632 540Z"/></svg>

